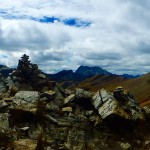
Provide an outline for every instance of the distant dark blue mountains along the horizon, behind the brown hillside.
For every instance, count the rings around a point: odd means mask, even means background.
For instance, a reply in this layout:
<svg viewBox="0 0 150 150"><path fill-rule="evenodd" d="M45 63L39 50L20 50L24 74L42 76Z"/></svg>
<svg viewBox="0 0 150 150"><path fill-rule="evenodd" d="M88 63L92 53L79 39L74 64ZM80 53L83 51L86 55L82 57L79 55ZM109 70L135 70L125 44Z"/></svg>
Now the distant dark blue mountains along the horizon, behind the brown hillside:
<svg viewBox="0 0 150 150"><path fill-rule="evenodd" d="M4 76L8 76L14 68L7 67L6 65L0 65L0 73ZM97 74L103 75L114 75L113 73L99 67L99 66L79 66L77 70L62 70L54 74L47 74L47 76L55 81L65 81L65 80L73 80L73 81L83 81L86 78L92 77ZM125 78L138 78L140 75L130 75L130 74L122 74L119 75Z"/></svg>

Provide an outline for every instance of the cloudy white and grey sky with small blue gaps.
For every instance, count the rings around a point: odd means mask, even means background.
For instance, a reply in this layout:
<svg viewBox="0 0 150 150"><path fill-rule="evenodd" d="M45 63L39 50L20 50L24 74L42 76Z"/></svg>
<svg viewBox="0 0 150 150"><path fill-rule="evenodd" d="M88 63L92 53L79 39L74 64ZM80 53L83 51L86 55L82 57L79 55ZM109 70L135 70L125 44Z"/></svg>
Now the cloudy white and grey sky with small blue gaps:
<svg viewBox="0 0 150 150"><path fill-rule="evenodd" d="M150 72L150 0L0 0L0 64L24 53L47 73Z"/></svg>

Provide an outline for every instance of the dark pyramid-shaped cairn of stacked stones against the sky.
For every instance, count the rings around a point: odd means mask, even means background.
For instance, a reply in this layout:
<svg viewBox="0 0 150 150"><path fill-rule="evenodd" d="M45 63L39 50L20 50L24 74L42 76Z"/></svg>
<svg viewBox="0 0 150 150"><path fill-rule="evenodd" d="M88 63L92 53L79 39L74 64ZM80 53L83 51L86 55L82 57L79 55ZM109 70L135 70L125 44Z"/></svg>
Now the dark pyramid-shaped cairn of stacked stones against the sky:
<svg viewBox="0 0 150 150"><path fill-rule="evenodd" d="M48 88L48 78L38 68L37 64L32 64L29 56L24 54L18 62L17 69L12 72L11 79L17 82L23 89L42 90Z"/></svg>

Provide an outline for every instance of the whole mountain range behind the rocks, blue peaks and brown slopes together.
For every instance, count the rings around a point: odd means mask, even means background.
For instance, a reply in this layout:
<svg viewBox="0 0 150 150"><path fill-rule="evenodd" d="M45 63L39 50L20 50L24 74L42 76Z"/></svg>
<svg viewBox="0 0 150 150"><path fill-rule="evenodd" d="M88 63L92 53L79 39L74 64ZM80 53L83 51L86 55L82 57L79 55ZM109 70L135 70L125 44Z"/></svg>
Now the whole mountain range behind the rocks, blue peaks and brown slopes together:
<svg viewBox="0 0 150 150"><path fill-rule="evenodd" d="M0 65L0 73L6 77L13 70ZM143 76L115 75L97 66L80 66L76 71L63 70L56 74L47 74L47 76L65 88L79 87L90 91L105 88L113 91L117 86L123 86L125 89L131 90L140 101L150 99L150 73Z"/></svg>

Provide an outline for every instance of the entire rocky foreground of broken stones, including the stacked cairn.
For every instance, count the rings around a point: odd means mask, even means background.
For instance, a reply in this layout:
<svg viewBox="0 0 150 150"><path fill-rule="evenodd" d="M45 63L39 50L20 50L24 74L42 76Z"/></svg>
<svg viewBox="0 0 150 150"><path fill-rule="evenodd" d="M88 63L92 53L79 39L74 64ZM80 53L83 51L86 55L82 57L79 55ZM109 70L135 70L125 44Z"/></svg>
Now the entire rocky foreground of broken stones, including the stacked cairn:
<svg viewBox="0 0 150 150"><path fill-rule="evenodd" d="M23 55L0 98L1 150L150 149L150 107L123 87L65 90Z"/></svg>

